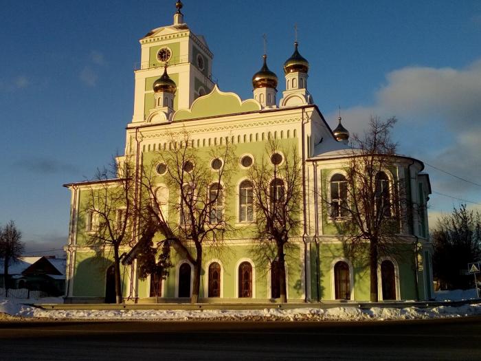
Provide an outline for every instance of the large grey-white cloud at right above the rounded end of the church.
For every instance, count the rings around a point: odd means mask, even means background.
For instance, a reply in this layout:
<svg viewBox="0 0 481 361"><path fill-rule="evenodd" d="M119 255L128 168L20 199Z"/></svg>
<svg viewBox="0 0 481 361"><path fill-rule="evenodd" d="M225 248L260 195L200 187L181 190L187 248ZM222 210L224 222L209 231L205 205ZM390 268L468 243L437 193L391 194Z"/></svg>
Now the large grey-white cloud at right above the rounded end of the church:
<svg viewBox="0 0 481 361"><path fill-rule="evenodd" d="M405 67L386 75L374 104L342 112L343 124L361 133L370 116L396 116L394 131L402 153L481 183L481 59L463 69ZM335 124L337 114L328 116ZM430 173L432 168L427 169ZM480 187L436 173L433 188L458 197ZM479 197L477 198L479 199ZM476 199L474 199L476 200Z"/></svg>

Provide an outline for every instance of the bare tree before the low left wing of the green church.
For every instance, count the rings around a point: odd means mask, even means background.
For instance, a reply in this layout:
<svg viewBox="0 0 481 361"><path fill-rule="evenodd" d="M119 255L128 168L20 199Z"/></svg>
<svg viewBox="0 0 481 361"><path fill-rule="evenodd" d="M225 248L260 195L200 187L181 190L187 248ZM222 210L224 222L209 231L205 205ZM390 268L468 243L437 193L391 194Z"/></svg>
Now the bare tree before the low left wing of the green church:
<svg viewBox="0 0 481 361"><path fill-rule="evenodd" d="M134 179L135 168L128 157L115 157L109 168L97 170L87 190L87 241L98 256L113 258L116 303L122 303L120 248L133 237Z"/></svg>

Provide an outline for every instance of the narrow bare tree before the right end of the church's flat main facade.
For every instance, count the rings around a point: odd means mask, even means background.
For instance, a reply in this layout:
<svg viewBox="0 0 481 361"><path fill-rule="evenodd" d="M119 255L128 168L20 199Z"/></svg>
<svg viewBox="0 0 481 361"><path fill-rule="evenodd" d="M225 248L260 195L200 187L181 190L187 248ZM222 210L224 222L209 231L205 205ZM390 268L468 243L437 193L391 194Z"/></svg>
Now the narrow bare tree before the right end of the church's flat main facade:
<svg viewBox="0 0 481 361"><path fill-rule="evenodd" d="M301 224L302 168L295 147L270 139L266 157L249 168L256 212L256 254L278 275L278 295L287 302L285 252ZM242 195L241 195L242 196ZM248 197L249 195L247 195ZM274 285L273 285L274 287ZM272 296L272 295L271 295Z"/></svg>

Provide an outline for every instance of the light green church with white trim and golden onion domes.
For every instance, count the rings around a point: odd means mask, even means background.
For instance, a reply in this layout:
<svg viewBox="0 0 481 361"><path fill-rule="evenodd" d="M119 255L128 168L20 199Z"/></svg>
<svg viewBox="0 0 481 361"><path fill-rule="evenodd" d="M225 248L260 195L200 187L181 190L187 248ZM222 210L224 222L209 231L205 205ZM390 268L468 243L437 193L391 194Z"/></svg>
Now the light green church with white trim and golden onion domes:
<svg viewBox="0 0 481 361"><path fill-rule="evenodd" d="M339 116L335 129L327 124L309 92L309 61L296 41L286 49L283 76L268 67L263 56L260 70L252 78L251 99L242 100L212 80L213 54L204 37L194 34L184 22L183 5L171 25L161 26L140 39L140 65L135 70L133 118L126 126L125 153L119 158L136 160L146 166L156 155L170 149L172 137L186 134L193 149L202 154L205 164L218 171L223 165L212 151L232 144L234 160L229 189L225 190L221 213L229 216L236 236L224 239L223 249L205 250L201 265L201 302L268 302L278 298L276 272L259 263L251 239L256 219L252 211L252 185L249 168L268 159L281 164L283 149L267 154L267 144L294 146L302 167L302 204L298 235L291 237L286 251L287 299L289 302L326 300L369 300L370 267L345 252L343 237L335 221L343 217L333 204L348 201L343 194L344 168L350 153L349 132ZM279 72L280 73L280 72ZM281 91L278 94L278 89ZM367 124L367 120L366 120ZM123 124L119 124L123 126ZM79 149L80 151L80 149ZM159 189L167 189L166 164L153 164ZM390 189L404 182L407 204L417 207L401 226L402 252L379 257L380 300L428 300L433 297L432 245L429 243L427 201L431 192L423 162L396 155L396 162L383 171ZM138 174L138 171L137 171ZM115 184L115 179L106 182ZM89 244L96 232L96 215L89 210L89 193L99 182L65 184L71 191L71 218L67 251L66 302L103 303L110 300L113 283L112 259L98 262ZM162 197L174 197L168 194ZM329 198L329 204L324 198ZM118 216L122 217L122 210ZM169 211L169 220L181 222ZM181 217L180 217L181 218ZM348 221L348 220L346 220ZM172 267L161 283L150 276L140 278L135 257L126 255L139 241L139 234L122 245L122 296L125 302L188 302L192 292L192 264L173 248ZM105 252L108 254L108 252ZM155 289L157 288L157 289Z"/></svg>

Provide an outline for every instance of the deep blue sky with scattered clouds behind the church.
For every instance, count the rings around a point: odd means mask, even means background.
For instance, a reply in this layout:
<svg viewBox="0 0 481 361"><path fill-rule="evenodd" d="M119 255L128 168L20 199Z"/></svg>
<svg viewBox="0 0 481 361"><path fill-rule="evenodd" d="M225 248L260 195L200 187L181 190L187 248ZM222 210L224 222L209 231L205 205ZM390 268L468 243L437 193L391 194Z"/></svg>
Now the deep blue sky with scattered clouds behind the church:
<svg viewBox="0 0 481 361"><path fill-rule="evenodd" d="M14 219L27 251L46 252L67 240L62 184L122 152L138 40L172 23L175 1L0 3L0 224ZM282 78L297 23L309 91L331 127L338 106L350 131L369 116L396 116L399 153L481 184L480 1L183 3L222 90L251 97L264 33L269 67ZM434 191L481 204L480 186L426 171ZM430 212L458 203L433 194Z"/></svg>

